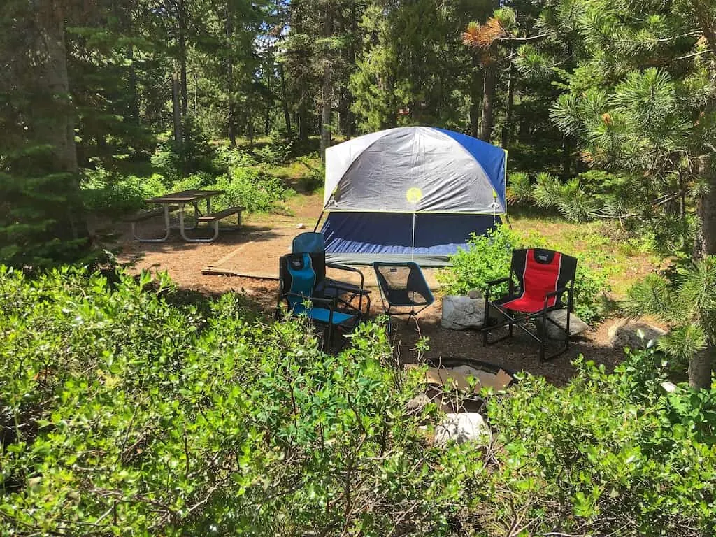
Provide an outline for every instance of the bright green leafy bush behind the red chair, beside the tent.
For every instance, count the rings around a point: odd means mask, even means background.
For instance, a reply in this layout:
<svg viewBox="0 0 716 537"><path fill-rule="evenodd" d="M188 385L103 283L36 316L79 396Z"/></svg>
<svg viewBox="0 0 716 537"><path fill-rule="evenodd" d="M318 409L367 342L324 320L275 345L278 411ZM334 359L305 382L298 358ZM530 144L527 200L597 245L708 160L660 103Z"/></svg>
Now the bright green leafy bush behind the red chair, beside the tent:
<svg viewBox="0 0 716 537"><path fill-rule="evenodd" d="M547 247L546 239L536 233L523 237L508 226L498 226L486 235L473 234L468 241L468 249L460 248L451 256L453 266L438 272L437 280L444 286L446 294L466 295L470 289L479 289L484 294L488 281L510 274L513 248ZM493 289L493 296L504 294L507 289L507 284L497 286ZM580 319L591 323L601 318L603 311L599 295L607 289L604 271L577 262L574 310Z"/></svg>

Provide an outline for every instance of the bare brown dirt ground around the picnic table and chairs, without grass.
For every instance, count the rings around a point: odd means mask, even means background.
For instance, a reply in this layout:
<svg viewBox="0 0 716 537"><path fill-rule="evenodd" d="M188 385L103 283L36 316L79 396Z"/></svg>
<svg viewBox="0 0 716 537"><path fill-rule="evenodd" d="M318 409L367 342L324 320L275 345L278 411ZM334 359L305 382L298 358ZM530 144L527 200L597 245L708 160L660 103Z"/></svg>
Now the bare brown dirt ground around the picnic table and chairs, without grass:
<svg viewBox="0 0 716 537"><path fill-rule="evenodd" d="M105 223L105 227L110 226L118 234L121 248L118 259L121 263L130 263L130 271L168 271L183 289L205 294L241 293L269 311L276 304L277 281L208 275L202 274L202 270L216 265L228 256L230 262L238 262L243 269L276 274L276 260L288 250L291 238L302 231L312 231L320 213L321 200L316 195L299 195L299 199L293 200L291 205L294 216L249 216L244 219L244 226L240 231L220 233L213 243L186 243L179 237L178 232L173 233L166 243L138 243L132 241L128 223ZM299 224L304 227L297 228ZM140 226L145 236L150 233L155 233L156 236L162 234L161 221L143 222ZM362 269L367 285L372 288L371 313L379 314L382 309L379 292L374 287L372 269ZM432 277L429 279L432 280ZM440 316L438 293L435 304L423 311L418 318L420 334L430 339L430 349L424 356L431 361L438 361L441 357L478 359L498 364L511 371L539 374L554 384L563 384L574 374L574 367L570 362L579 354L584 354L598 364L605 364L608 369L614 367L622 356L621 351L606 346L606 334L616 319L608 320L583 334L583 337L574 339L569 350L561 356L540 363L536 345L520 331L516 331L513 339L483 347L479 332L442 329ZM415 322L406 324L403 319L394 319L392 324L392 338L395 340L397 352L400 352L400 359L414 362L417 358L415 342L419 337Z"/></svg>

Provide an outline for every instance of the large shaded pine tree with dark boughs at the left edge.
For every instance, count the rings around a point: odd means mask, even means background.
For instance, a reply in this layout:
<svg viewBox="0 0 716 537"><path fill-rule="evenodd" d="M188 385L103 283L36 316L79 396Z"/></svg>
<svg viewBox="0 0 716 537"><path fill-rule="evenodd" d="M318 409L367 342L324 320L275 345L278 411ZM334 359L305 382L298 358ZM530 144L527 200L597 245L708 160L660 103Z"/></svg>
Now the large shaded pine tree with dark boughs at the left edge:
<svg viewBox="0 0 716 537"><path fill-rule="evenodd" d="M0 22L0 263L86 259L65 18L69 2L4 4Z"/></svg>

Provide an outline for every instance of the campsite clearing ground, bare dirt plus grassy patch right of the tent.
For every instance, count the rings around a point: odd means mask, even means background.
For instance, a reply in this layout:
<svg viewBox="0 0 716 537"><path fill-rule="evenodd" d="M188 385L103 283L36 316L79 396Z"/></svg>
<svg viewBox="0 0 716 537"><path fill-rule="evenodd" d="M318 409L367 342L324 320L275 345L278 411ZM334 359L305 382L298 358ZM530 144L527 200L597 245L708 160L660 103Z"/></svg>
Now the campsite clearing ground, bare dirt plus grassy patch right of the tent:
<svg viewBox="0 0 716 537"><path fill-rule="evenodd" d="M152 271L168 271L168 274L187 291L198 291L201 294L216 295L224 292L237 292L256 304L257 309L269 311L276 304L278 284L268 279L241 278L235 276L218 276L202 274L202 269L226 258L233 253L234 259L245 263L247 270L277 272L278 258L286 253L291 238L303 231L310 231L321 211L322 198L320 193L300 195L291 200L293 216L251 215L246 218L245 226L235 233L224 233L214 243L185 243L173 238L167 243L147 244L132 241L128 226L117 224L121 233L120 246L122 253L119 259L123 263L132 262L131 271L149 269ZM302 223L304 228L296 228ZM599 223L596 223L599 224ZM625 289L630 282L653 269L652 258L639 251L625 251L616 243L604 241L604 230L596 224L572 224L558 218L536 218L513 216L511 225L518 231L527 233L539 231L553 238L563 251L574 251L582 255L585 248L591 249L593 258L603 259L603 266L609 268L610 284L614 289ZM160 222L149 225L161 226ZM121 226L121 227L120 227ZM253 230L253 231L252 231ZM152 231L152 230L148 230ZM251 243L251 233L254 240ZM260 235L260 240L255 240ZM255 255L256 253L256 255ZM259 256L258 253L261 255ZM275 260L275 262L274 262ZM372 268L361 267L366 276L367 286L374 289ZM432 271L427 270L429 282ZM440 357L474 357L485 361L499 362L505 367L525 370L533 374L541 374L554 384L563 384L574 374L570 361L584 354L597 363L613 367L623 356L620 349L607 346L607 332L616 319L607 319L577 339L561 357L540 364L533 344L521 336L514 342L482 347L480 334L477 332L455 332L440 328L440 291L437 291L435 304L420 314L420 332L430 339L430 349L425 352L429 359ZM380 313L377 295L373 300L372 314ZM406 326L405 321L395 322L395 340L400 358L405 362L415 359L415 343L419 337L415 324Z"/></svg>

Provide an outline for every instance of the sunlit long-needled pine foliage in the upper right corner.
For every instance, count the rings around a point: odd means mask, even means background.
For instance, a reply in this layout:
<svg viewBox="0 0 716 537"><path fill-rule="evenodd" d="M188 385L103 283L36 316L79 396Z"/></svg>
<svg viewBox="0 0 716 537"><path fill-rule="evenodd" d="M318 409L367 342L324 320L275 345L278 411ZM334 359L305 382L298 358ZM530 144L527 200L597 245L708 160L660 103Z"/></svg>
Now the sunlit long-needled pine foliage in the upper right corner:
<svg viewBox="0 0 716 537"><path fill-rule="evenodd" d="M662 221L682 234L684 251L697 258L715 254L716 6L646 0L560 5L563 24L584 41L584 59L569 74L569 92L552 116L578 137L584 162L624 179L602 209L621 218L648 218L659 209ZM697 226L690 226L692 202ZM695 387L710 386L710 374L691 380Z"/></svg>

